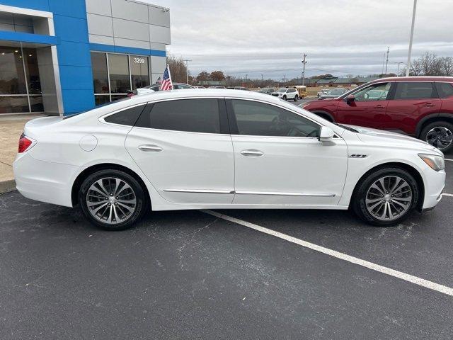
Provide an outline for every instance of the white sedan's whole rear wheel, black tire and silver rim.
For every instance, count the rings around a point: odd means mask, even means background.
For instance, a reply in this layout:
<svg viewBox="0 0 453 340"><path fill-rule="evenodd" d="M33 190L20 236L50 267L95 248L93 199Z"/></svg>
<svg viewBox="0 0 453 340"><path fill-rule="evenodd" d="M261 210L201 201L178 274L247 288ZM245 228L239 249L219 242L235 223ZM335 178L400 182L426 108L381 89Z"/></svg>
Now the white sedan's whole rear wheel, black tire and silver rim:
<svg viewBox="0 0 453 340"><path fill-rule="evenodd" d="M123 230L132 227L145 210L142 186L120 170L100 170L88 176L79 189L79 204L96 227Z"/></svg>

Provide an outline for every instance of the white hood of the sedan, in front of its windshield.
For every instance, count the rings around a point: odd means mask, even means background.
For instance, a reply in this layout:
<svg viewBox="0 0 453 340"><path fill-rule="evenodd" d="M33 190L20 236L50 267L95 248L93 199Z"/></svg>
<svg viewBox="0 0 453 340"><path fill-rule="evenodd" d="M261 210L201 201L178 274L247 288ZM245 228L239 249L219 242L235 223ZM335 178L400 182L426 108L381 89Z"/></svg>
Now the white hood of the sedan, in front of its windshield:
<svg viewBox="0 0 453 340"><path fill-rule="evenodd" d="M388 147L407 147L411 149L426 150L442 154L442 152L440 152L439 149L436 149L427 142L423 142L423 140L418 140L411 136L401 135L396 132L389 132L372 128L363 128L362 126L355 125L346 126L349 126L350 128L353 128L360 132L359 134L357 134L357 137L359 137L359 139L365 143L370 144L372 143L375 145L382 145Z"/></svg>

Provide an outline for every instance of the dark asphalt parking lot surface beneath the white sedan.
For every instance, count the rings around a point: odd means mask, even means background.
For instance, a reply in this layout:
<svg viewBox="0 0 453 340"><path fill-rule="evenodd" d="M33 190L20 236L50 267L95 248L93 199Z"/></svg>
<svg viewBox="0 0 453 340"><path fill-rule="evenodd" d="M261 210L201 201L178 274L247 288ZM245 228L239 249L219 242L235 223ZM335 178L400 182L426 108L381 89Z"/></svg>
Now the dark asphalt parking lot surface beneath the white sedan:
<svg viewBox="0 0 453 340"><path fill-rule="evenodd" d="M452 339L452 207L445 196L389 228L347 211L224 210L103 232L77 208L6 193L0 339Z"/></svg>

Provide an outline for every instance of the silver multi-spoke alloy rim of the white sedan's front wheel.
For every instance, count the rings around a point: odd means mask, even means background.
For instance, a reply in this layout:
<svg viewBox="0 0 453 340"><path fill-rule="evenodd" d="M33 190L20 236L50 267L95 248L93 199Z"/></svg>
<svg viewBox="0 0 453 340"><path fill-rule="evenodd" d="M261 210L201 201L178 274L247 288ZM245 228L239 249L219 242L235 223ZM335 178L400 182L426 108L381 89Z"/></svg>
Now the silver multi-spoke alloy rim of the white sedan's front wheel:
<svg viewBox="0 0 453 340"><path fill-rule="evenodd" d="M411 208L411 186L398 176L381 177L368 188L365 205L377 220L397 220Z"/></svg>

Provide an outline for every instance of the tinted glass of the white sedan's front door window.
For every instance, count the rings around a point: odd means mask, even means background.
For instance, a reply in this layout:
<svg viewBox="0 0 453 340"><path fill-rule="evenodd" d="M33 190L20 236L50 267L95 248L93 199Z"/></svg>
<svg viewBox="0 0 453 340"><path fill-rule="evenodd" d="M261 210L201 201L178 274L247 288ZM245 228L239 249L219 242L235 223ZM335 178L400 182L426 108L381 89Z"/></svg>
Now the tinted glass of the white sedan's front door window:
<svg viewBox="0 0 453 340"><path fill-rule="evenodd" d="M318 137L319 125L300 115L256 101L232 100L239 135Z"/></svg>

